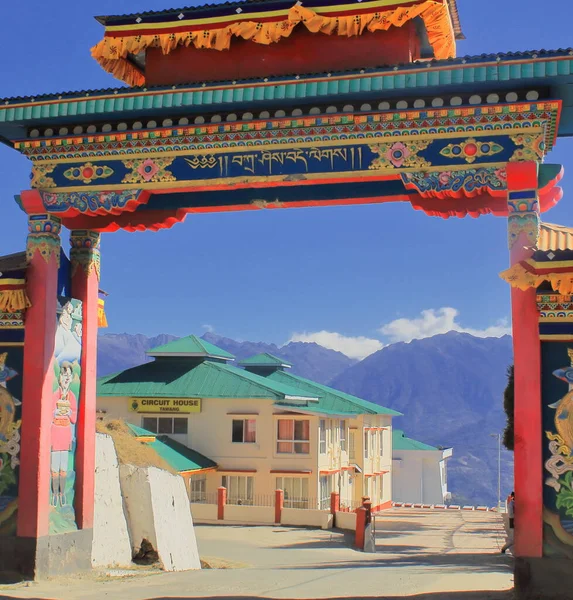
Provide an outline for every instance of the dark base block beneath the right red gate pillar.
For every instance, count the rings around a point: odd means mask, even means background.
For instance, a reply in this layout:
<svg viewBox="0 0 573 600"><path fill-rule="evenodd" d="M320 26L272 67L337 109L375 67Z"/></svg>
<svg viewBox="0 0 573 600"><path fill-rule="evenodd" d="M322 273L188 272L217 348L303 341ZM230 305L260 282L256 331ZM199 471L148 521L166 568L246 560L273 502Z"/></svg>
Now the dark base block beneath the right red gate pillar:
<svg viewBox="0 0 573 600"><path fill-rule="evenodd" d="M570 558L516 558L516 600L564 600L571 597L573 570Z"/></svg>

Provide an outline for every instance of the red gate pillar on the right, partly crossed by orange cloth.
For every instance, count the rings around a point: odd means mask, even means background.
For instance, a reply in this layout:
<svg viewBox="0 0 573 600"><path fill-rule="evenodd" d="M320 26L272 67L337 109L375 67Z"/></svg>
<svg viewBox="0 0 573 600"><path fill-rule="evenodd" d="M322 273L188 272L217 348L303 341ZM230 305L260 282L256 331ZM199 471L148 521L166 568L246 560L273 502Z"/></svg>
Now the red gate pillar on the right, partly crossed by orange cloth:
<svg viewBox="0 0 573 600"><path fill-rule="evenodd" d="M511 266L530 258L539 237L538 165L507 165ZM543 555L541 343L534 288L511 290L515 363L515 554Z"/></svg>

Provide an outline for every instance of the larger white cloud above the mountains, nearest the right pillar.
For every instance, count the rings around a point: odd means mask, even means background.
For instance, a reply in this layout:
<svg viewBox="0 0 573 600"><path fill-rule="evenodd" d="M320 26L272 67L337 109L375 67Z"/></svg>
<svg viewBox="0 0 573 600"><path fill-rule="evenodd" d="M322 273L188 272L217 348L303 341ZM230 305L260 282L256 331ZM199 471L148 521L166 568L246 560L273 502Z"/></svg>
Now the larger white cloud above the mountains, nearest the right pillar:
<svg viewBox="0 0 573 600"><path fill-rule="evenodd" d="M471 327L462 327L457 318L459 311L451 307L439 309L430 308L423 310L420 316L415 319L396 319L386 325L383 325L379 331L388 338L393 344L396 342L411 342L412 340L423 339L447 333L448 331L459 331L460 333L469 333L475 337L501 337L511 335L511 327L507 319L501 319L495 325L486 329L472 329Z"/></svg>

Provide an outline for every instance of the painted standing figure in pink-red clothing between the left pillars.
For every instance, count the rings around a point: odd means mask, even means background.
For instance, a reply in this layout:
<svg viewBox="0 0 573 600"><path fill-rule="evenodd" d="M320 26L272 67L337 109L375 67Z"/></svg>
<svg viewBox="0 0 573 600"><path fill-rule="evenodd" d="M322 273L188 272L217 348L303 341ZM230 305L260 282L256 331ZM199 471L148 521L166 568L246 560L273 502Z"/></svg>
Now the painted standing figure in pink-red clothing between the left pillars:
<svg viewBox="0 0 573 600"><path fill-rule="evenodd" d="M54 392L52 418L52 506L65 506L66 478L69 464L69 453L73 442L73 425L78 417L78 403L70 386L74 379L73 366L68 361L60 364L58 389Z"/></svg>

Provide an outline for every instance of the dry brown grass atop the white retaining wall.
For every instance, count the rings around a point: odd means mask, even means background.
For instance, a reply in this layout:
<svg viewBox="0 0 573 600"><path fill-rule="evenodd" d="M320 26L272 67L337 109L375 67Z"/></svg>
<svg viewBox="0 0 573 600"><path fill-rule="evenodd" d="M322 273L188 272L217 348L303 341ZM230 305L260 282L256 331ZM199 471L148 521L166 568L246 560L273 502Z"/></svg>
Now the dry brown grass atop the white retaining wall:
<svg viewBox="0 0 573 600"><path fill-rule="evenodd" d="M177 471L164 461L151 446L139 441L131 433L125 421L121 419L97 421L96 431L111 436L119 464L135 467L157 467L173 475L178 475Z"/></svg>

